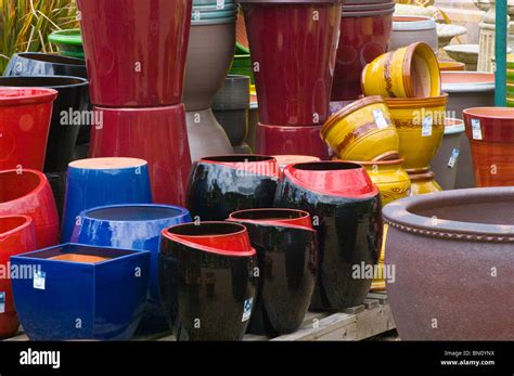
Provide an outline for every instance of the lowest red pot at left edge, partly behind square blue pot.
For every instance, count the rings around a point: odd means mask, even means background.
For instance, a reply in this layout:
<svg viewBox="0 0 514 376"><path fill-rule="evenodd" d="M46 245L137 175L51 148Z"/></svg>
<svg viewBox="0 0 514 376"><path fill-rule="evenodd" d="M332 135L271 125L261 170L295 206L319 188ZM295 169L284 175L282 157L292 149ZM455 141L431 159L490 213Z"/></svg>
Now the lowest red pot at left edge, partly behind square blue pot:
<svg viewBox="0 0 514 376"><path fill-rule="evenodd" d="M27 216L0 217L0 265L11 270L11 256L36 249L33 219ZM20 322L14 310L11 280L0 278L0 338L13 336Z"/></svg>

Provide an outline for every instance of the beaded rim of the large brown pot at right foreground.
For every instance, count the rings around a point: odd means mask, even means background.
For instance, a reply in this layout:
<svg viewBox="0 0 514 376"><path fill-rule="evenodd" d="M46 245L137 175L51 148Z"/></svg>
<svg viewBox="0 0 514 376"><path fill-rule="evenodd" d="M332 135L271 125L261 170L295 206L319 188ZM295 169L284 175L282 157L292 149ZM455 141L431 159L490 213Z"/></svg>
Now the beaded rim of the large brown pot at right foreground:
<svg viewBox="0 0 514 376"><path fill-rule="evenodd" d="M438 219L434 224L433 218L412 212L414 209L432 208L437 204L444 206L448 203L451 205L487 203L499 196L514 197L514 187L496 186L435 192L395 200L384 206L382 212L385 223L399 231L417 235L463 242L514 243L513 224L484 224L442 219Z"/></svg>

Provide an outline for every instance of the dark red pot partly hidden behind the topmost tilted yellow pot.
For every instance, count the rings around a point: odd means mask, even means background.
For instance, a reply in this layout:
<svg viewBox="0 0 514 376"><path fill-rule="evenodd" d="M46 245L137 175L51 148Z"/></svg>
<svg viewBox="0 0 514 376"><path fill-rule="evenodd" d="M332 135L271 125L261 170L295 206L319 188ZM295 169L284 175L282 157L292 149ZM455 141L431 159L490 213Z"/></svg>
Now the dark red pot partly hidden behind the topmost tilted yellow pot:
<svg viewBox="0 0 514 376"><path fill-rule="evenodd" d="M362 94L362 69L388 50L393 12L394 3L384 11L361 12L343 5L332 101L356 100Z"/></svg>

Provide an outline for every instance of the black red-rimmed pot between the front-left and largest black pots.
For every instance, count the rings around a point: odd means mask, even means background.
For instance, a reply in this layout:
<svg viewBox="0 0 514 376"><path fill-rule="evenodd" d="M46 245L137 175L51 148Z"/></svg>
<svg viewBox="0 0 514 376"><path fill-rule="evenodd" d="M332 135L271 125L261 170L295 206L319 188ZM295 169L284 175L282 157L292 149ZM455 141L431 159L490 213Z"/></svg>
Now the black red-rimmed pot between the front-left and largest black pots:
<svg viewBox="0 0 514 376"><path fill-rule="evenodd" d="M298 330L309 308L317 274L317 239L310 216L292 209L233 212L257 251L259 283L248 332L277 336Z"/></svg>

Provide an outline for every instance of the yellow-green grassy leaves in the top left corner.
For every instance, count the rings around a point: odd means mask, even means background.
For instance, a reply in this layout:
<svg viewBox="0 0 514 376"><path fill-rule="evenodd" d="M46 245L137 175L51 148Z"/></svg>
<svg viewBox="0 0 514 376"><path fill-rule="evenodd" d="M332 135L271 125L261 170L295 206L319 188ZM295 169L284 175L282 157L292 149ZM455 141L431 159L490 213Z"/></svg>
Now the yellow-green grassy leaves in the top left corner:
<svg viewBox="0 0 514 376"><path fill-rule="evenodd" d="M0 0L0 73L15 52L53 52L48 35L74 27L75 0Z"/></svg>

